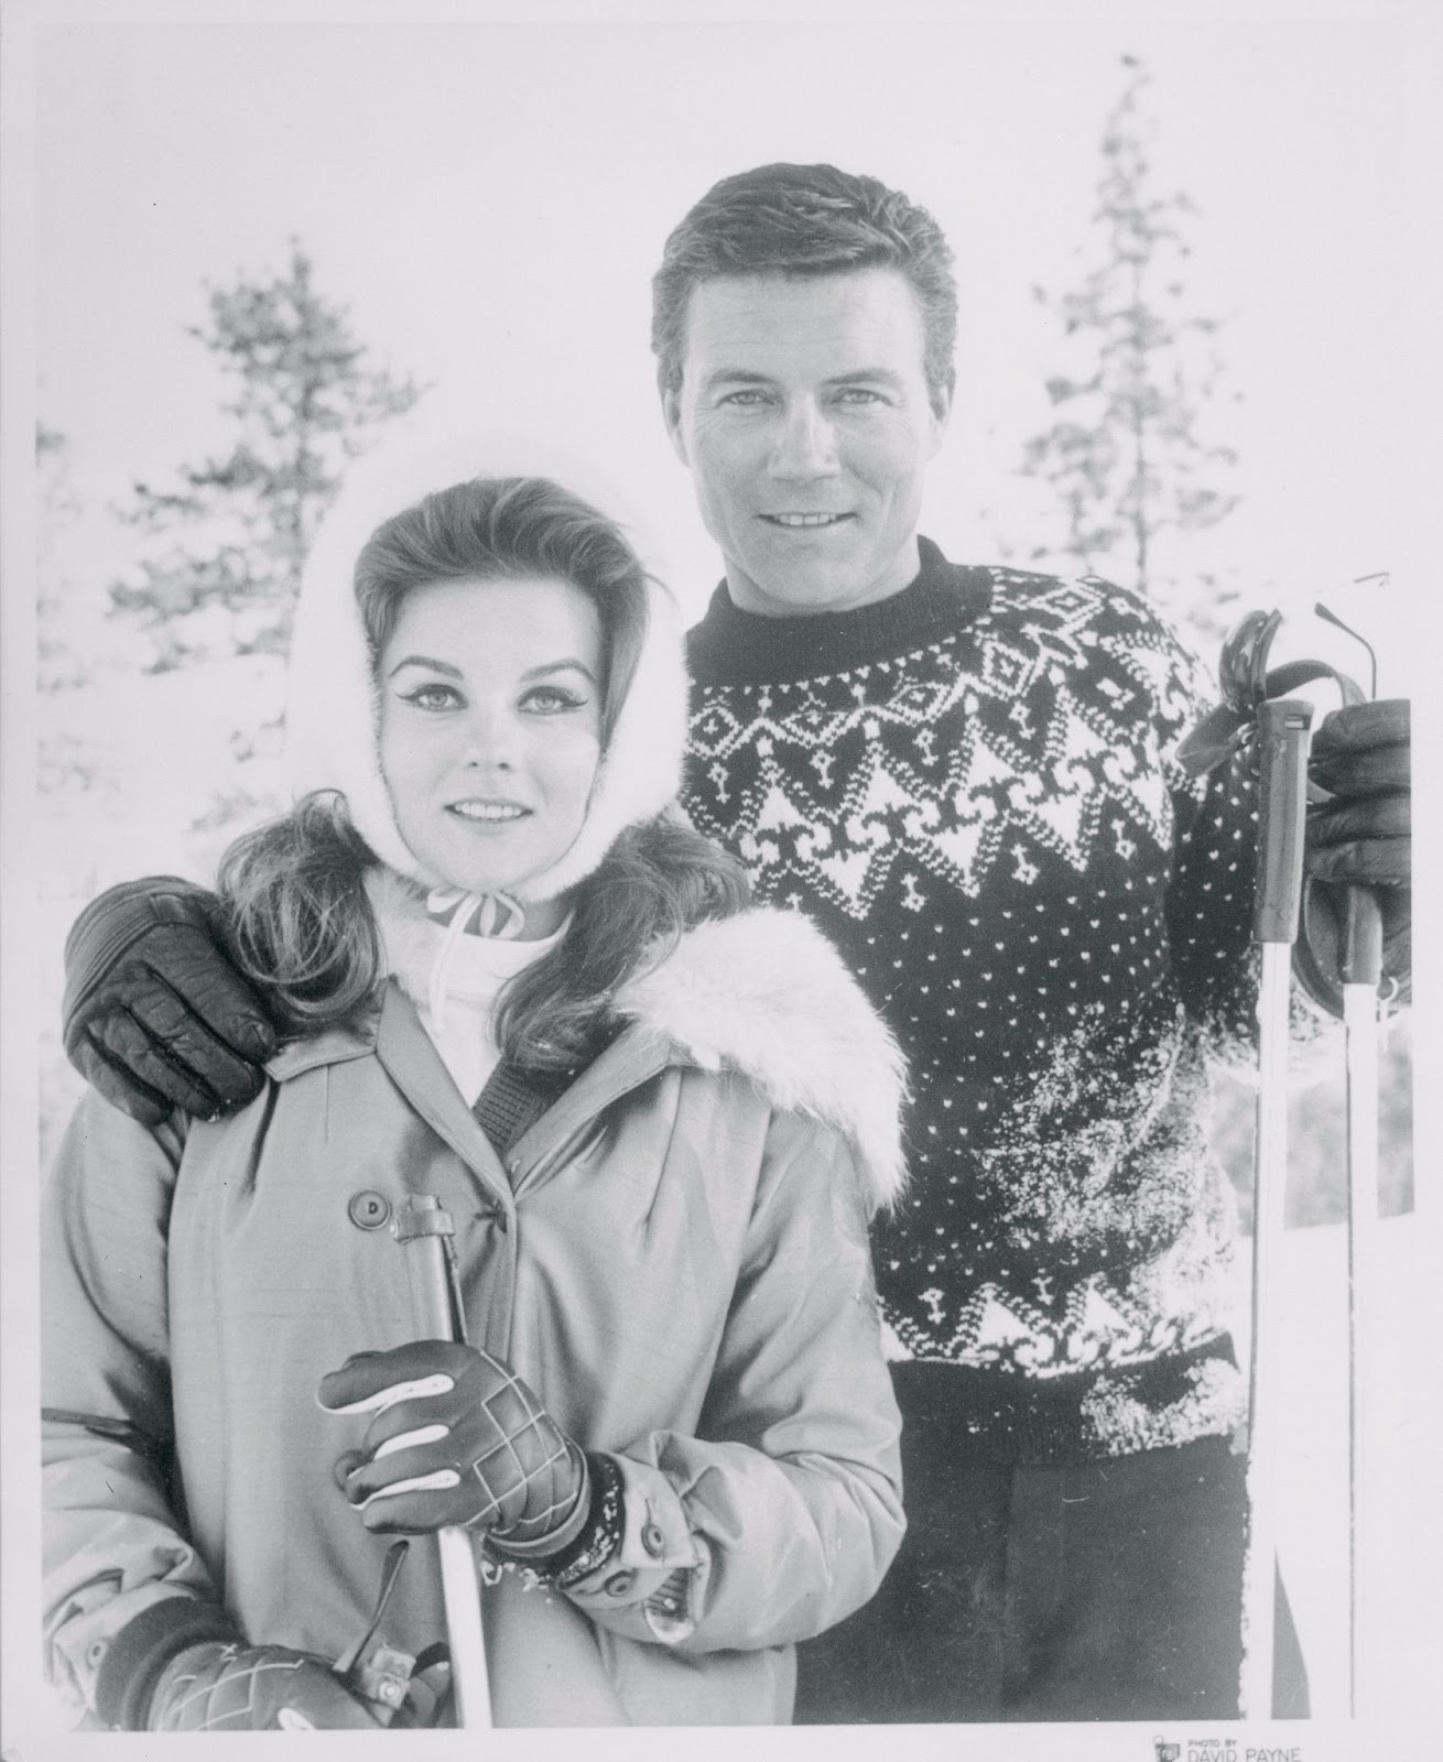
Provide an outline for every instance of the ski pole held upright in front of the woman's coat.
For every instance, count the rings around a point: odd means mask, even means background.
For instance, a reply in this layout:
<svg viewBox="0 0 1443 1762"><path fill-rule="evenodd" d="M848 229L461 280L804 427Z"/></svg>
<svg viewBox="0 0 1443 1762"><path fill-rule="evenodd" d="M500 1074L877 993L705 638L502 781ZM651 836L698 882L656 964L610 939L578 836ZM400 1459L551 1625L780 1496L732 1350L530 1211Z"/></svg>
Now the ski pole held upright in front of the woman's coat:
<svg viewBox="0 0 1443 1762"><path fill-rule="evenodd" d="M419 1339L463 1341L465 1329L446 1258L451 1214L433 1193L412 1193L393 1225L405 1247L411 1279L411 1309ZM465 1529L446 1528L435 1535L440 1552L440 1591L446 1602L446 1633L451 1642L451 1681L463 1727L492 1723L492 1684L486 1674L486 1640L481 1630L481 1575L472 1540Z"/></svg>

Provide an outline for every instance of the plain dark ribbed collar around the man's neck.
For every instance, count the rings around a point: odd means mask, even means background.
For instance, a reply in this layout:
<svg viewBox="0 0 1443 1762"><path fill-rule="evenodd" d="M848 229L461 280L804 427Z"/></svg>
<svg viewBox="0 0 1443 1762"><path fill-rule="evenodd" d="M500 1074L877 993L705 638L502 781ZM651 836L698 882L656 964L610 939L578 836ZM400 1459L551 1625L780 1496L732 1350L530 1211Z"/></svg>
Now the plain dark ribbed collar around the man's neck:
<svg viewBox="0 0 1443 1762"><path fill-rule="evenodd" d="M951 564L930 539L918 539L921 567L890 599L849 611L768 618L733 604L726 581L707 617L687 636L687 666L698 685L781 685L890 661L951 636L992 604L992 569Z"/></svg>

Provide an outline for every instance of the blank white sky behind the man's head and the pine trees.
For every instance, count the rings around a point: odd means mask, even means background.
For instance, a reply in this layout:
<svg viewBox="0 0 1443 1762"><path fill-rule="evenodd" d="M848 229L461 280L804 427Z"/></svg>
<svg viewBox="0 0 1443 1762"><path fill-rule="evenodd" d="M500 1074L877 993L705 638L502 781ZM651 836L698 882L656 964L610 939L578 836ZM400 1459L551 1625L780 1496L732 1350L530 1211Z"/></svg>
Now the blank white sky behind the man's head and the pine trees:
<svg viewBox="0 0 1443 1762"><path fill-rule="evenodd" d="M1196 303L1232 317L1246 393L1225 560L1265 597L1397 571L1410 39L1376 14L1191 11L42 28L39 409L92 506L194 458L220 435L218 379L183 335L201 284L280 268L298 234L317 285L435 382L432 403L603 463L699 610L717 564L657 418L648 278L715 178L832 159L906 189L955 243L958 407L925 527L987 560L985 509L1017 525L1045 493L1011 476L1061 359L1031 289L1084 238L1131 51L1156 76L1159 190L1200 208ZM92 543L99 594L123 539Z"/></svg>

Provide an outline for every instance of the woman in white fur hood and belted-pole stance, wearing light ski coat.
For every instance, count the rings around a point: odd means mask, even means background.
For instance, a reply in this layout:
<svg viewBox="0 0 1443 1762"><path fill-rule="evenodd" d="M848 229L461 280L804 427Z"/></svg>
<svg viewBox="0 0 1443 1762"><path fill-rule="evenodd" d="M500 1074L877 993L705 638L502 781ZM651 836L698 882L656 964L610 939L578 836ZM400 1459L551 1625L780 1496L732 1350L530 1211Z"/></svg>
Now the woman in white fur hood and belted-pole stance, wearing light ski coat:
<svg viewBox="0 0 1443 1762"><path fill-rule="evenodd" d="M788 1720L902 1533L895 1048L668 816L680 650L610 522L476 479L338 550L307 793L220 876L287 1043L226 1121L86 1096L48 1188L51 1669L122 1729L425 1718L430 1549L329 1665L388 1538L462 1524L497 1723ZM469 1344L412 1339L412 1193Z"/></svg>

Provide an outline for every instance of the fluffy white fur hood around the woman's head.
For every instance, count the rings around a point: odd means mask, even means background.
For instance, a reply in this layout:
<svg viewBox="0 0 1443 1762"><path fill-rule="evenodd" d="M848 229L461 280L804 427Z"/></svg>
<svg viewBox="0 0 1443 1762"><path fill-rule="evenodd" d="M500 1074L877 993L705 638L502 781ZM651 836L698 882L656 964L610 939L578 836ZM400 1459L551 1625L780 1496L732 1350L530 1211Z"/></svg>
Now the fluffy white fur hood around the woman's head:
<svg viewBox="0 0 1443 1762"><path fill-rule="evenodd" d="M423 440L414 432L352 465L307 559L291 640L287 740L294 793L340 789L351 819L375 855L426 886L449 877L419 863L396 832L375 747L370 655L352 589L356 557L370 534L423 495L477 476L546 472L578 485L571 462L514 435ZM578 493L587 493L585 478ZM592 493L590 500L597 502ZM606 497L603 511L615 507ZM615 518L615 513L613 513ZM587 821L571 849L513 892L525 902L555 899L585 879L617 835L652 819L677 795L687 733L682 633L671 596L648 589L648 629L636 677L597 770Z"/></svg>

